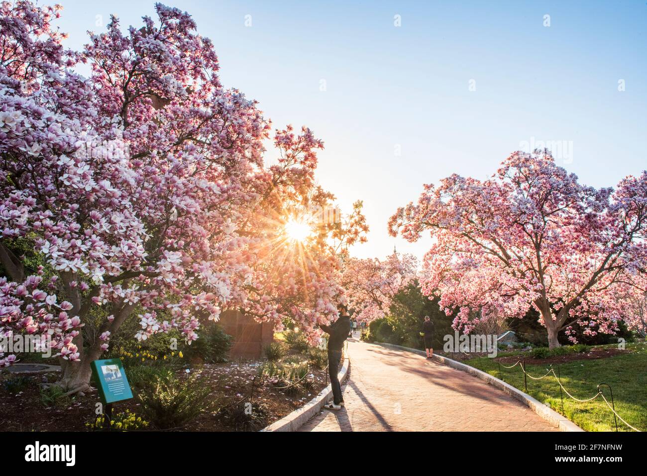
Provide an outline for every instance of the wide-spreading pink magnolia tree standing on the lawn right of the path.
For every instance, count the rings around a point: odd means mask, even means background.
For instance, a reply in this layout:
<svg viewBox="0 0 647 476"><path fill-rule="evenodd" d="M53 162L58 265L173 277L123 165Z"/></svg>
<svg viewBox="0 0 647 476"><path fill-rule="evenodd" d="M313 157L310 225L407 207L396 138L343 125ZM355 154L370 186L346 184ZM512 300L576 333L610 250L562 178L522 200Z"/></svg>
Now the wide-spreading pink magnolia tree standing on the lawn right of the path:
<svg viewBox="0 0 647 476"><path fill-rule="evenodd" d="M429 232L421 283L470 332L490 316L541 314L551 348L558 332L613 334L644 289L647 172L615 191L578 183L546 151L516 152L488 180L452 175L399 208L392 235Z"/></svg>

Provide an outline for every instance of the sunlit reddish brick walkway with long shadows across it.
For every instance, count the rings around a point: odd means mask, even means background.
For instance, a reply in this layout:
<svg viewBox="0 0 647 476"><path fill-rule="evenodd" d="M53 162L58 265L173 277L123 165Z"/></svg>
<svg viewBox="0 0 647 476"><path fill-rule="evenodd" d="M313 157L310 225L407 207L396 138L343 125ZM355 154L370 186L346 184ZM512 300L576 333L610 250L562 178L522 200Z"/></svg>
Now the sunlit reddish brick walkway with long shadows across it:
<svg viewBox="0 0 647 476"><path fill-rule="evenodd" d="M350 340L346 407L300 431L558 431L512 396L468 373Z"/></svg>

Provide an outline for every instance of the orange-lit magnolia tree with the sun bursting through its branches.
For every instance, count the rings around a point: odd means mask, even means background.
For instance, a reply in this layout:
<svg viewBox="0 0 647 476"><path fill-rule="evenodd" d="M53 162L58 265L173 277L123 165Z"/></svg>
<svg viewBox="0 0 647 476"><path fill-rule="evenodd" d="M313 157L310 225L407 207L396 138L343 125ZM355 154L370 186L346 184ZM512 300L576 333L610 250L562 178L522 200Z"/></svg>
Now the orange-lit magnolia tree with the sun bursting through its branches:
<svg viewBox="0 0 647 476"><path fill-rule="evenodd" d="M240 309L257 319L270 319L281 330L291 319L317 343L317 324L337 317L336 303L345 302L340 266L348 248L364 243L368 226L362 202L348 215L334 206L334 196L317 186L314 151L323 147L309 129L296 135L291 126L276 131L278 164L252 182L254 204L243 210L238 234L249 237L253 265L237 275L244 293Z"/></svg>

